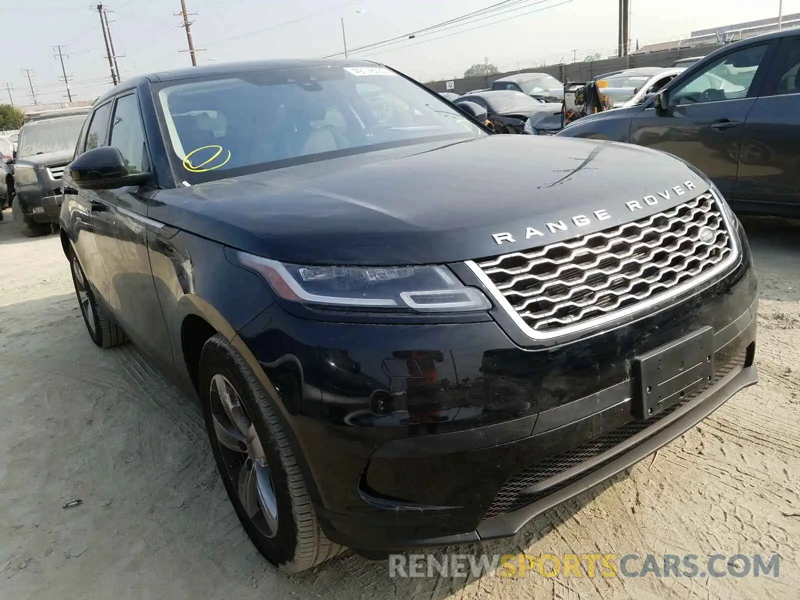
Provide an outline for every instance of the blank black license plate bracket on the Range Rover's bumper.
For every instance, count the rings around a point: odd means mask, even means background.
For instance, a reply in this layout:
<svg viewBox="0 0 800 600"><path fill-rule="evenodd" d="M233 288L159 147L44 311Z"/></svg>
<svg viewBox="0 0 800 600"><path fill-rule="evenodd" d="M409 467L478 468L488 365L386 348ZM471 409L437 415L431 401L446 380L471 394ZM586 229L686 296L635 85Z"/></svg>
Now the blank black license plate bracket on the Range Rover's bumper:
<svg viewBox="0 0 800 600"><path fill-rule="evenodd" d="M653 418L714 376L714 329L702 327L634 358L633 412Z"/></svg>

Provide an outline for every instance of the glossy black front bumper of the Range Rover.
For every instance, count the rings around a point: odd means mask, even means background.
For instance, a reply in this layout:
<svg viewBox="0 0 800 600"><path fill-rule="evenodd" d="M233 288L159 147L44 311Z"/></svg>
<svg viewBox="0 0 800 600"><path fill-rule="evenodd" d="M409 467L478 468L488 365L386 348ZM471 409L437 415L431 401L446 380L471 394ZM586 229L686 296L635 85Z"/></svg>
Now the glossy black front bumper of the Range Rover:
<svg viewBox="0 0 800 600"><path fill-rule="evenodd" d="M721 280L561 345L497 322L312 321L270 306L239 335L282 391L318 517L335 542L397 550L512 535L624 470L757 381L746 241ZM712 381L642 420L634 359L713 331Z"/></svg>

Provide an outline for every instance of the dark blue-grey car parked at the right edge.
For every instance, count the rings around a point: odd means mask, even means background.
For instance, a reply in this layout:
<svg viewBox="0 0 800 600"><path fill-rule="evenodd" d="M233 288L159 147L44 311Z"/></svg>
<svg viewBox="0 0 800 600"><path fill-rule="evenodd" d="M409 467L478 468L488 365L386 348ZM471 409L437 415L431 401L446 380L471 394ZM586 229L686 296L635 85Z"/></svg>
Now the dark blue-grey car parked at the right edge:
<svg viewBox="0 0 800 600"><path fill-rule="evenodd" d="M706 173L737 210L800 216L800 30L725 46L639 106L558 135L664 150Z"/></svg>

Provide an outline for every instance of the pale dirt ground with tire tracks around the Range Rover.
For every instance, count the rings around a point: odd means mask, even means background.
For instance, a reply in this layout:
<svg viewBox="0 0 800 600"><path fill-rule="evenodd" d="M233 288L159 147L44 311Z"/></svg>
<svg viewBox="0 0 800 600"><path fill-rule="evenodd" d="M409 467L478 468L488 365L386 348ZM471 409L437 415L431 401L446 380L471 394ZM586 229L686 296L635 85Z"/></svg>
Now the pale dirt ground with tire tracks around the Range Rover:
<svg viewBox="0 0 800 600"><path fill-rule="evenodd" d="M22 238L6 212L0 598L800 598L800 224L746 228L762 285L759 385L515 538L448 551L777 553L778 578L391 579L354 554L294 576L264 562L198 411L131 346L90 342L58 236Z"/></svg>

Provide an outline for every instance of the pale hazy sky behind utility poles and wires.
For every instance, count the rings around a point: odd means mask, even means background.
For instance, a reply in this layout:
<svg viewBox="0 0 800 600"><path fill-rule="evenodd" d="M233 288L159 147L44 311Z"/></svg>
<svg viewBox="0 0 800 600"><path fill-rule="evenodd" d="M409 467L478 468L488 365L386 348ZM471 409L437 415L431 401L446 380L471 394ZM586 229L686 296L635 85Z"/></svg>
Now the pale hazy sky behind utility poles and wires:
<svg viewBox="0 0 800 600"><path fill-rule="evenodd" d="M518 0L491 18L426 28L498 4L499 0L186 0L198 62L249 58L320 58L399 38L350 58L385 62L422 81L455 78L478 62L501 71L615 53L618 0ZM630 0L635 46L687 37L690 31L778 14L780 0ZM122 78L190 66L180 0L109 0L110 29ZM782 0L783 14L800 0ZM485 17L486 14L482 14ZM11 20L13 18L13 20ZM478 17L476 17L478 18ZM74 99L93 100L110 85L96 3L27 0L4 10L6 52L0 62L0 102L31 104L29 69L39 102L62 102L66 90L53 46L66 54ZM408 39L410 34L417 37Z"/></svg>

